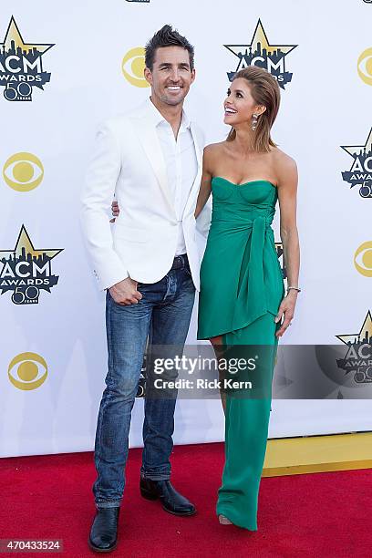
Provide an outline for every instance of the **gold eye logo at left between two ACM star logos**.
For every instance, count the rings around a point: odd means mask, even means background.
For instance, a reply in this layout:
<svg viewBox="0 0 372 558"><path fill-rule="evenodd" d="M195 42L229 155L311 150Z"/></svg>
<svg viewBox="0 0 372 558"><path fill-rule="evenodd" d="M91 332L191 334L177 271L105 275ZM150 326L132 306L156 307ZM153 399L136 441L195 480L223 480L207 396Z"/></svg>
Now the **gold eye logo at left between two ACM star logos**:
<svg viewBox="0 0 372 558"><path fill-rule="evenodd" d="M3 177L15 191L34 190L44 178L44 167L32 153L15 153L5 162Z"/></svg>

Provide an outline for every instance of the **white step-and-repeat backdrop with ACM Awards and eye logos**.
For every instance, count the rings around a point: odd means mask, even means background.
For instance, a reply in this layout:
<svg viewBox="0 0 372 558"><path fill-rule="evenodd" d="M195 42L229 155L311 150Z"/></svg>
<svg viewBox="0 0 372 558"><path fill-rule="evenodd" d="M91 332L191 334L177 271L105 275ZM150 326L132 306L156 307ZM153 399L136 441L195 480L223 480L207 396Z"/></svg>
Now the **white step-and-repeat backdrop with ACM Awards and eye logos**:
<svg viewBox="0 0 372 558"><path fill-rule="evenodd" d="M344 344L356 359L347 389L340 368L324 399L274 399L269 435L371 429L371 21L370 0L1 6L1 455L93 448L107 368L104 294L79 194L98 123L149 96L143 47L166 23L195 46L187 109L209 142L228 131L222 101L237 69L258 65L277 78L273 136L299 169L303 287L281 344ZM274 231L282 262L277 219ZM191 344L195 332L194 311ZM141 445L142 416L138 398L131 446ZM218 400L178 402L176 443L222 438Z"/></svg>

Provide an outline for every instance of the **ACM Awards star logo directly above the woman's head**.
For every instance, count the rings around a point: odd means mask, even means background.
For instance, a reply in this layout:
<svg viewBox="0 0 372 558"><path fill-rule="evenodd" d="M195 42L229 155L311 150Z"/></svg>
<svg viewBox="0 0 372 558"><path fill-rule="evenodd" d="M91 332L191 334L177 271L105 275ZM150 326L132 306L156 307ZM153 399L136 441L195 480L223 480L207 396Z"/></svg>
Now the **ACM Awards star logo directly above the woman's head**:
<svg viewBox="0 0 372 558"><path fill-rule="evenodd" d="M261 19L258 20L251 43L248 45L224 45L224 47L239 58L236 69L227 73L230 81L233 80L236 72L249 66L263 67L274 76L282 89L292 80L293 74L285 69L285 57L298 45L270 45Z"/></svg>

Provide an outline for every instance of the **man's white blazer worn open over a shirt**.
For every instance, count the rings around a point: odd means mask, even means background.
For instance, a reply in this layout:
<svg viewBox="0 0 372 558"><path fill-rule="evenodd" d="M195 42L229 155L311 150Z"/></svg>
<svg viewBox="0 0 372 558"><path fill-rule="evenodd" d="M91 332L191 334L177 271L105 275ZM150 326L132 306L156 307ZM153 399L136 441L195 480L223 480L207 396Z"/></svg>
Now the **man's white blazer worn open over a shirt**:
<svg viewBox="0 0 372 558"><path fill-rule="evenodd" d="M99 288L130 276L140 283L160 281L171 269L177 245L177 216L167 180L150 99L129 114L109 119L98 129L94 156L82 192L81 220ZM182 214L191 275L200 289L200 256L194 218L202 178L202 131L191 121L198 171ZM111 225L113 197L119 217ZM211 203L198 217L206 236Z"/></svg>

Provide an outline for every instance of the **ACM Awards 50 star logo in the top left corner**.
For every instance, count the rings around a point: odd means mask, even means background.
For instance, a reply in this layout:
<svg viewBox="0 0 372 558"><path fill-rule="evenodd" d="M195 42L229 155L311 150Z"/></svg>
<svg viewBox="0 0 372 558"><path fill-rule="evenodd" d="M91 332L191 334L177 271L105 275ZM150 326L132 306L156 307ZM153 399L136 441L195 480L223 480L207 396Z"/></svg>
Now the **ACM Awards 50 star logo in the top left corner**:
<svg viewBox="0 0 372 558"><path fill-rule="evenodd" d="M34 87L44 89L50 73L43 69L43 56L51 47L54 45L25 43L12 15L4 43L0 43L0 85L6 100L30 101Z"/></svg>

